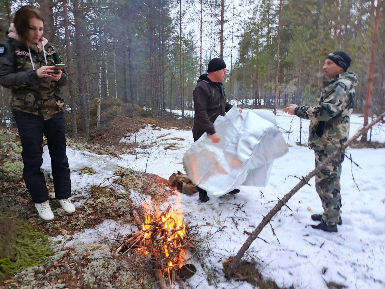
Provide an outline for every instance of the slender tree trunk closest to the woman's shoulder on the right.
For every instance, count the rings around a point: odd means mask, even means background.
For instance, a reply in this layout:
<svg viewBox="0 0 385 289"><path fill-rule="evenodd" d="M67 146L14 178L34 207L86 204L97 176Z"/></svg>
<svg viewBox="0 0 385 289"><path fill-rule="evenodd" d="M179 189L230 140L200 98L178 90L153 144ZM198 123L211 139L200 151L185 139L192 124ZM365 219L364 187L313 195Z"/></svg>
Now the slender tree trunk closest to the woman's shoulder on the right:
<svg viewBox="0 0 385 289"><path fill-rule="evenodd" d="M71 51L68 12L67 12L67 0L63 0L63 18L64 18L64 29L65 29L65 47L67 50L68 90L70 94L70 105L71 105L71 116L72 116L72 137L77 138L75 83L74 83L74 70L72 67L72 51Z"/></svg>

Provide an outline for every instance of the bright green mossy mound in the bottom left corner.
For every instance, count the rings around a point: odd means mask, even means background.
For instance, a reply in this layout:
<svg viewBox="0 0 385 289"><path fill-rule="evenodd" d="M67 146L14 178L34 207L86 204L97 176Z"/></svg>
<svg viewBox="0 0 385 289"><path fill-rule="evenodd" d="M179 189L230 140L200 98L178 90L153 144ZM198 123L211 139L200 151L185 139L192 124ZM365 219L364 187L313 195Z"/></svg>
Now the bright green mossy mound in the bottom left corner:
<svg viewBox="0 0 385 289"><path fill-rule="evenodd" d="M44 264L52 255L49 237L30 223L0 213L0 277Z"/></svg>

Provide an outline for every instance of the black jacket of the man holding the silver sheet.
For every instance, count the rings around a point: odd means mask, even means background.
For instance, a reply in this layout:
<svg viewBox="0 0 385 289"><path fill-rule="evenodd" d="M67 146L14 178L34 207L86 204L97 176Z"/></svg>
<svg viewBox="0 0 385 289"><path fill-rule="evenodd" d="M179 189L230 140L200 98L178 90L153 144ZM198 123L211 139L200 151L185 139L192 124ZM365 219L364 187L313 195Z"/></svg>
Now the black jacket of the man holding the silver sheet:
<svg viewBox="0 0 385 289"><path fill-rule="evenodd" d="M199 77L192 94L195 111L192 134L196 141L204 132L214 134L215 119L224 116L233 106L226 102L222 82L212 82L206 73Z"/></svg>

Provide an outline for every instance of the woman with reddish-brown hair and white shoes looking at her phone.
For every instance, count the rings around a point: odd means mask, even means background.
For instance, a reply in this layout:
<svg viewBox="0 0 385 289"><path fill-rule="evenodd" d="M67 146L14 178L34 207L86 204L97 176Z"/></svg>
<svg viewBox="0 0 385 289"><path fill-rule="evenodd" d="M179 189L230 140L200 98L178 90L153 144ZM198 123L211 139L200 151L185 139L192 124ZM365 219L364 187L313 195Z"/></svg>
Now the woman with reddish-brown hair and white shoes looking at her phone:
<svg viewBox="0 0 385 289"><path fill-rule="evenodd" d="M61 87L67 74L55 48L42 37L44 19L33 6L22 6L0 45L0 84L12 89L11 107L22 142L23 178L39 217L49 222L49 205L43 163L43 134L51 157L55 197L68 215L75 213L71 197L68 159L65 155L64 100ZM56 65L56 67L55 67Z"/></svg>

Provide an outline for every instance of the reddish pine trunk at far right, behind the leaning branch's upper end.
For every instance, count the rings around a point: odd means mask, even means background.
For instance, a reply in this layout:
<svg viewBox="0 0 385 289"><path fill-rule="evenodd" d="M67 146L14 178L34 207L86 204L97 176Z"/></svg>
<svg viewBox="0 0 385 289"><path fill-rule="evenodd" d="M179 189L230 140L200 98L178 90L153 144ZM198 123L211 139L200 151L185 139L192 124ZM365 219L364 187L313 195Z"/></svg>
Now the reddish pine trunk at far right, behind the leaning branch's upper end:
<svg viewBox="0 0 385 289"><path fill-rule="evenodd" d="M372 102L372 89L373 89L373 77L374 77L374 64L377 53L377 37L378 37L378 26L380 23L380 11L381 11L382 0L377 1L376 16L374 20L373 36L372 36L372 55L370 57L369 76L368 76L368 88L365 97L365 111L363 116L363 125L366 126L369 121L369 110L370 103ZM362 134L361 141L367 141L367 133Z"/></svg>

